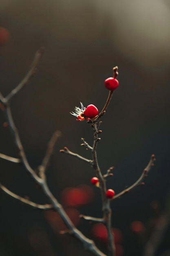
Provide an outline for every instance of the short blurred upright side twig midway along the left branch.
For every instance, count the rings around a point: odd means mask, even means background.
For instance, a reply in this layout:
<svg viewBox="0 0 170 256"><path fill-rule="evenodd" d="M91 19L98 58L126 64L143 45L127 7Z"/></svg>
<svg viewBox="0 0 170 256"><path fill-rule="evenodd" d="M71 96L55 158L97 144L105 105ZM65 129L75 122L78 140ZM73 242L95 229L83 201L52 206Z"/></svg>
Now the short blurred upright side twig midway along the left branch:
<svg viewBox="0 0 170 256"><path fill-rule="evenodd" d="M55 143L60 136L61 136L61 132L59 130L56 130L49 141L46 154L44 156L44 159L42 160L42 164L38 167L41 173L40 174L41 177L42 177L42 173L44 173L46 171L46 168L48 167L51 155L53 154L53 151L54 151Z"/></svg>

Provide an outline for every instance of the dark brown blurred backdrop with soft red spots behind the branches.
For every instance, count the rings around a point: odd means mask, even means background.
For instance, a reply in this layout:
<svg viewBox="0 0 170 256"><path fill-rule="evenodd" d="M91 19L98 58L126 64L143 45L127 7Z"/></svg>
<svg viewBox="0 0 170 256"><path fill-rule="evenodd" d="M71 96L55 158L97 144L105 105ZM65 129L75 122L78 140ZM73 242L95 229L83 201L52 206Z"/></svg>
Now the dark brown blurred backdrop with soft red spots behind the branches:
<svg viewBox="0 0 170 256"><path fill-rule="evenodd" d="M102 216L99 190L90 183L95 173L59 150L67 146L91 158L80 139L92 145L93 131L69 112L79 101L102 110L108 96L104 80L119 67L119 88L102 119L98 159L102 173L115 166L107 188L119 193L138 179L153 153L157 158L145 186L112 203L117 256L146 256L146 243L170 204L169 0L0 0L0 27L9 31L0 45L4 96L22 80L35 52L46 48L34 79L11 101L13 118L34 169L53 132L62 132L47 171L49 187L104 253L103 227L78 218ZM2 111L0 120L0 153L18 157ZM49 203L20 164L0 159L0 181L33 202ZM63 228L56 213L32 209L0 191L1 256L90 256L74 238L59 234ZM161 238L154 255L170 255L168 226Z"/></svg>

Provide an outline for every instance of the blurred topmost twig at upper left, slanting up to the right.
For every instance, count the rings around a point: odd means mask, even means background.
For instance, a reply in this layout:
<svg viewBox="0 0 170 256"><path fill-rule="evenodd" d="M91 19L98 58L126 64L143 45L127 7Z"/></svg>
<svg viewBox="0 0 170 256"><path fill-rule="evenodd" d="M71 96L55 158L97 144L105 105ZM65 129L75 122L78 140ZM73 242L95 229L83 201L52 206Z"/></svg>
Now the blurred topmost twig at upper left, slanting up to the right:
<svg viewBox="0 0 170 256"><path fill-rule="evenodd" d="M33 77L33 75L35 74L36 70L37 70L37 65L40 61L40 59L42 58L42 55L44 54L44 48L40 48L36 54L35 54L35 58L33 60L33 63L31 64L31 69L29 70L29 72L26 74L26 76L24 77L24 79L22 79L22 81L19 83L19 85L17 85L17 87L15 89L13 89L5 99L3 99L3 103L8 103L11 98L17 94L28 82L29 80ZM2 100L2 97L0 97Z"/></svg>

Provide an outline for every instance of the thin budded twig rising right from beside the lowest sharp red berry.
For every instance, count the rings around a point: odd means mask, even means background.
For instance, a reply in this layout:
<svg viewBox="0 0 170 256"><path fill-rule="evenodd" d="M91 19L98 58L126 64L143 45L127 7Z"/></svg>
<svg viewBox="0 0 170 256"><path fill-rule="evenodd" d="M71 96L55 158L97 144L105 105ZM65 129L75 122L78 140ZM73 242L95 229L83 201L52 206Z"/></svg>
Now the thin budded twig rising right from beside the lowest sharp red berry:
<svg viewBox="0 0 170 256"><path fill-rule="evenodd" d="M126 193L128 193L132 189L135 189L137 186L139 186L141 184L144 184L142 181L147 177L148 172L150 171L151 167L154 166L154 161L155 160L156 160L155 159L155 155L151 155L150 161L149 161L148 165L146 166L146 168L144 169L144 171L141 174L141 176L139 177L139 179L134 184L132 184L132 186L128 187L127 189L124 189L123 191L121 191L120 193L115 195L113 200L115 200L117 198L120 198L121 195L125 195Z"/></svg>

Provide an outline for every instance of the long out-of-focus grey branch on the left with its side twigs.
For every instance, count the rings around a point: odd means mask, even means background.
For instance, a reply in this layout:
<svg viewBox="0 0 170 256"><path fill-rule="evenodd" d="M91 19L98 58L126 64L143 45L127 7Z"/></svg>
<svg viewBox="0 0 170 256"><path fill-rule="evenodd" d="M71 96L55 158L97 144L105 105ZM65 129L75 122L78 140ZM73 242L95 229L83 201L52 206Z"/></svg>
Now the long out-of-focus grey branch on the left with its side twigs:
<svg viewBox="0 0 170 256"><path fill-rule="evenodd" d="M22 146L21 140L20 140L20 136L18 133L18 129L16 128L13 118L12 118L12 114L11 114L11 108L10 108L10 104L9 101L10 99L17 94L24 85L26 85L29 80L31 79L31 77L33 76L33 74L35 73L36 67L38 65L38 62L40 61L40 58L42 56L44 51L42 51L42 49L40 49L36 54L35 54L35 58L33 61L33 64L31 66L31 70L28 72L28 74L24 77L24 79L21 81L21 83L11 92L9 93L9 95L4 98L2 96L2 94L0 93L0 102L1 104L4 106L4 111L8 120L8 124L9 124L9 128L11 130L11 133L15 139L15 144L18 147L19 153L20 153L20 157L22 160L22 163L24 165L24 167L26 168L26 171L28 171L28 173L31 175L31 177L33 178L33 180L42 188L42 191L44 192L44 194L49 198L51 204L52 204L52 208L57 211L62 220L64 221L65 225L67 226L67 228L69 229L69 234L71 234L72 236L74 236L75 238L77 238L84 246L84 249L90 251L93 255L95 256L106 256L104 253L102 253L96 246L95 243L93 242L93 240L90 240L88 238L86 238L71 222L70 218L67 216L66 212L64 211L63 207L61 206L61 204L59 204L59 202L57 201L57 199L54 197L54 195L51 193L51 191L49 190L49 187L46 183L46 176L45 176L45 170L46 167L48 165L49 162L49 158L51 157L51 154L53 152L53 146L54 143L57 139L57 137L59 137L59 133L55 134L55 138L52 137L51 142L49 143L49 148L46 152L46 155L44 157L44 160L42 162L42 165L40 166L40 173L41 173L41 177L38 177L38 175L35 173L35 171L31 168L31 166L29 165L26 155L24 153L24 148ZM68 150L69 152L69 150ZM3 155L2 155L3 156ZM74 154L75 157L79 158L79 155ZM10 157L3 157L7 160L11 160ZM84 160L85 162L89 162L91 163L91 160L85 159L85 158L81 158L81 160ZM51 207L51 205L49 204L45 204L44 206L40 206L40 204L35 204L29 200L26 200L22 197L20 197L19 195L15 195L14 193L12 193L11 191L9 191L6 187L4 187L2 184L0 184L0 188L6 192L7 194L11 195L13 198L20 200L21 202L24 202L26 204L31 205L34 208L38 208L38 209L49 209L48 207ZM51 208L50 208L51 209Z"/></svg>

